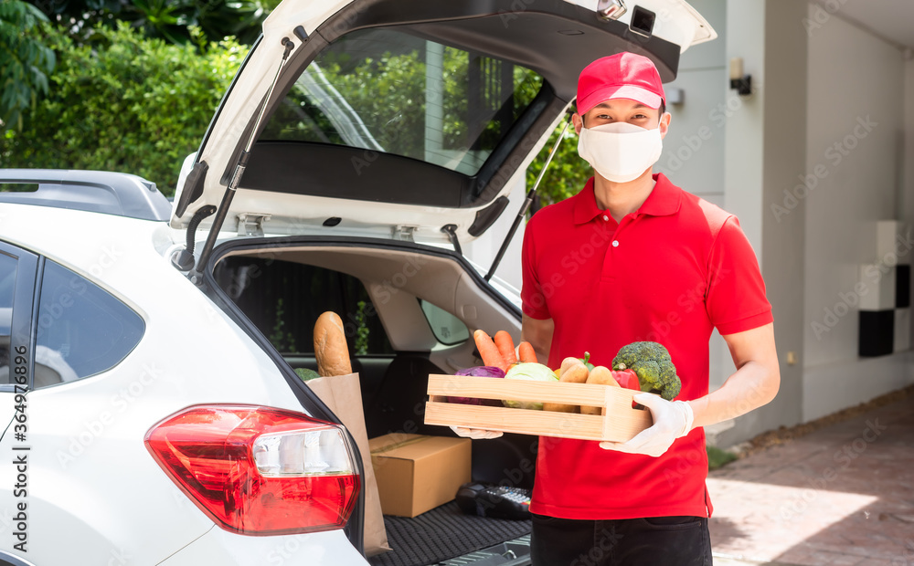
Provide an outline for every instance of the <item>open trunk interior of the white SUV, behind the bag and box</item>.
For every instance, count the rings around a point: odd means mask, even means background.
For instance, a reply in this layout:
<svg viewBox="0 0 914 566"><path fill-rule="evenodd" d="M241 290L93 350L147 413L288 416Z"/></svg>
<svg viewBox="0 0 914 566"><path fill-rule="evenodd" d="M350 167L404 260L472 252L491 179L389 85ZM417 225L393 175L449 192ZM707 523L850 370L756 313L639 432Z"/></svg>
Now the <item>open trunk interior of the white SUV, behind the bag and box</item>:
<svg viewBox="0 0 914 566"><path fill-rule="evenodd" d="M220 255L214 277L292 368L316 369L314 322L343 320L359 373L368 438L455 436L423 422L430 373L482 365L473 330L520 338L520 311L450 250L402 242L289 238ZM533 487L537 437L473 440L475 482ZM385 516L393 549L376 566L527 564L529 521L463 514L453 501L413 518Z"/></svg>

